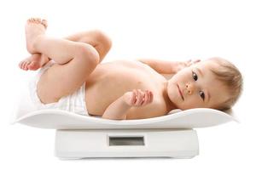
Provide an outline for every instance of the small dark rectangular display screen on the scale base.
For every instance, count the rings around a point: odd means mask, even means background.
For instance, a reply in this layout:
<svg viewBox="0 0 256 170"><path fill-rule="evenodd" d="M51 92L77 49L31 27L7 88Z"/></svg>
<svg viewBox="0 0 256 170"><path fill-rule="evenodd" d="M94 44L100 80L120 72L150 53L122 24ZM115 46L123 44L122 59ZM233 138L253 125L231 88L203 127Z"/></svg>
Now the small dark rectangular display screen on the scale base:
<svg viewBox="0 0 256 170"><path fill-rule="evenodd" d="M110 137L109 136L109 146L117 146L117 145L138 145L143 146L144 143L144 137Z"/></svg>

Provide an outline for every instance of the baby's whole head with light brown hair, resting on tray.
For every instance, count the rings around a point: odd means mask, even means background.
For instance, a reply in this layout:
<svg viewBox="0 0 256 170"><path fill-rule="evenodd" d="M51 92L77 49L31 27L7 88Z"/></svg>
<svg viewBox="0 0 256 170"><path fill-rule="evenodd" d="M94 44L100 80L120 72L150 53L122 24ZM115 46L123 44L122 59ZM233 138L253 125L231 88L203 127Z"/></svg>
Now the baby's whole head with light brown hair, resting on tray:
<svg viewBox="0 0 256 170"><path fill-rule="evenodd" d="M241 95L242 77L235 65L211 58L178 71L167 82L167 94L181 110L227 110Z"/></svg>

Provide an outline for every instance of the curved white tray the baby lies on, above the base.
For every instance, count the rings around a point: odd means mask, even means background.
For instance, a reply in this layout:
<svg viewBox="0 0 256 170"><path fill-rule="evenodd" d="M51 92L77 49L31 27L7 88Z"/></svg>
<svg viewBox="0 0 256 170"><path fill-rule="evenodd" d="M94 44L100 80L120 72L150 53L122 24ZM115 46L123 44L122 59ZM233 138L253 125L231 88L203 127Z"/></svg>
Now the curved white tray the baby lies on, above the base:
<svg viewBox="0 0 256 170"><path fill-rule="evenodd" d="M206 108L190 109L148 119L122 121L81 116L61 110L32 111L15 119L15 122L28 126L54 129L195 128L211 127L230 121L236 119L223 111Z"/></svg>

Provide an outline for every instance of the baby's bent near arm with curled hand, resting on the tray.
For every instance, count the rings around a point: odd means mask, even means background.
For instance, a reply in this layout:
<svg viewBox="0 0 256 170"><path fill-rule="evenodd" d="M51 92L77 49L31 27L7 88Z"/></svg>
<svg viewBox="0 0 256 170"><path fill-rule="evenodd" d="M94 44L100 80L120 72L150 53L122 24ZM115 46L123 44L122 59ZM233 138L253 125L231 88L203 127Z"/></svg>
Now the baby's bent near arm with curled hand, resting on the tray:
<svg viewBox="0 0 256 170"><path fill-rule="evenodd" d="M151 91L146 90L143 92L140 89L136 89L132 92L127 92L108 106L102 118L115 120L126 119L126 112L132 106L144 106L152 101L153 93Z"/></svg>

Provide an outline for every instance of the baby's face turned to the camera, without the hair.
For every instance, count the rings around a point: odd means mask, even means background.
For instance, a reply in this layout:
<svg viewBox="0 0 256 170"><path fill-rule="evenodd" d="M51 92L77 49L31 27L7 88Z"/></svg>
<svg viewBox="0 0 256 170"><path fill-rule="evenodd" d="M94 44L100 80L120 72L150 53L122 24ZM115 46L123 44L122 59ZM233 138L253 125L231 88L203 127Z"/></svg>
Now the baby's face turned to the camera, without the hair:
<svg viewBox="0 0 256 170"><path fill-rule="evenodd" d="M216 79L210 68L218 68L218 64L212 60L201 61L168 80L167 94L177 108L214 108L228 99L227 88Z"/></svg>

